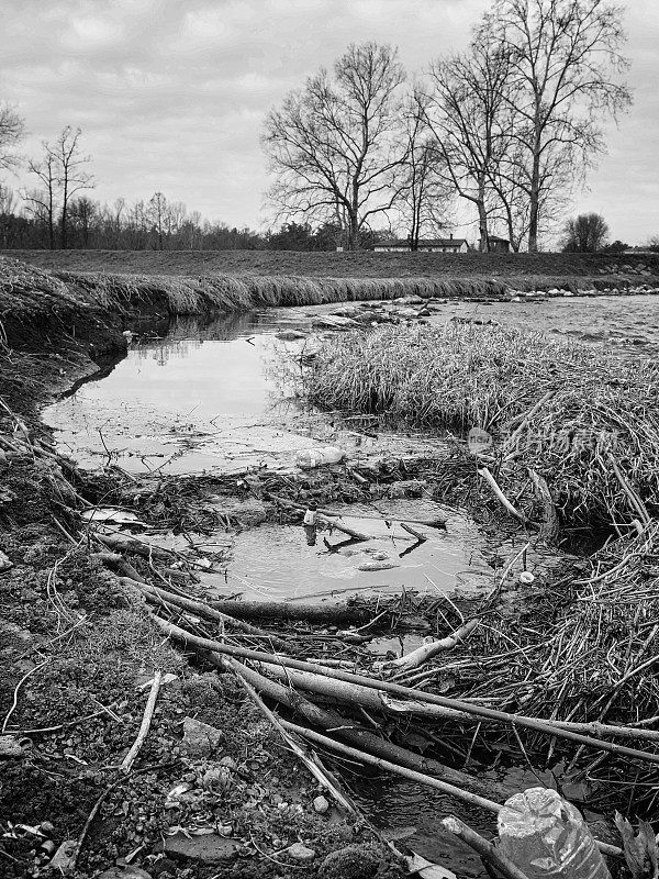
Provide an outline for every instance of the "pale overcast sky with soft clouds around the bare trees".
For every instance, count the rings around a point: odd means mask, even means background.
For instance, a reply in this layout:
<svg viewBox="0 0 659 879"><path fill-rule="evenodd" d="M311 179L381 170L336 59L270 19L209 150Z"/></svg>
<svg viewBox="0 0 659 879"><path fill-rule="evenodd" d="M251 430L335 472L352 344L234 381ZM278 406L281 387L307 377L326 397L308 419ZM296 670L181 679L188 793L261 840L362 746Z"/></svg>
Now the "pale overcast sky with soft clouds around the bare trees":
<svg viewBox="0 0 659 879"><path fill-rule="evenodd" d="M80 126L100 201L160 190L230 225L263 227L267 111L348 43L400 47L410 73L461 49L487 0L0 0L0 100L29 155ZM635 103L577 193L612 237L659 234L659 2L629 0ZM7 180L7 182L12 182ZM14 180L19 188L25 178Z"/></svg>

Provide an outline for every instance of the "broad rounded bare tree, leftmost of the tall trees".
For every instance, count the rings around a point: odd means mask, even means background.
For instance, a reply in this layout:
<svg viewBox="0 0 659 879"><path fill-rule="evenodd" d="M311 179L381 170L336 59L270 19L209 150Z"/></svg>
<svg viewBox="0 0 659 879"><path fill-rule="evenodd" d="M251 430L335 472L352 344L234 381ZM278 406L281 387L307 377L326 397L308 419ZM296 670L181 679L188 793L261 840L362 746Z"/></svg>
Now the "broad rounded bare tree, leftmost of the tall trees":
<svg viewBox="0 0 659 879"><path fill-rule="evenodd" d="M396 49L350 45L333 76L321 69L267 118L263 145L276 182L270 200L280 218L342 223L349 249L377 214L391 210L401 138Z"/></svg>

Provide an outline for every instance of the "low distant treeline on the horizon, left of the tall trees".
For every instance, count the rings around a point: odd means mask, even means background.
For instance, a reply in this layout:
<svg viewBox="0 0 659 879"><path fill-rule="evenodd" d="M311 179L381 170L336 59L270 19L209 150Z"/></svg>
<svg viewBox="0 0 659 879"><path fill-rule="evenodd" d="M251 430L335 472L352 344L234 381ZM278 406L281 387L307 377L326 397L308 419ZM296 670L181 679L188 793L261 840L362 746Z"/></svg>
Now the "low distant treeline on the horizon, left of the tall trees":
<svg viewBox="0 0 659 879"><path fill-rule="evenodd" d="M59 218L56 218L58 221ZM62 223L53 224L53 246L60 248ZM47 249L51 224L31 205L0 183L0 248ZM101 204L88 196L72 199L66 219L66 247L108 251L335 251L342 242L337 225L287 223L279 231L256 232L222 222L210 222L199 211L188 213L180 201L168 201L156 192L148 201L118 199ZM384 233L369 233L368 247Z"/></svg>

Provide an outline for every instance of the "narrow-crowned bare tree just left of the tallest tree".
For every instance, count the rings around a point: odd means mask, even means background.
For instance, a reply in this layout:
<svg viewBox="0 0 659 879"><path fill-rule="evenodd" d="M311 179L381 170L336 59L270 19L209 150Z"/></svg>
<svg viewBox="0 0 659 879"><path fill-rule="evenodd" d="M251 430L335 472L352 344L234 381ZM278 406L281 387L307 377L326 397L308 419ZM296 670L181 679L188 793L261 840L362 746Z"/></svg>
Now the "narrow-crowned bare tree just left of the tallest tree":
<svg viewBox="0 0 659 879"><path fill-rule="evenodd" d="M505 52L492 52L479 32L465 54L434 62L427 86L418 91L418 109L437 145L443 174L478 212L481 251L489 249L491 181L509 145L503 97L509 88Z"/></svg>

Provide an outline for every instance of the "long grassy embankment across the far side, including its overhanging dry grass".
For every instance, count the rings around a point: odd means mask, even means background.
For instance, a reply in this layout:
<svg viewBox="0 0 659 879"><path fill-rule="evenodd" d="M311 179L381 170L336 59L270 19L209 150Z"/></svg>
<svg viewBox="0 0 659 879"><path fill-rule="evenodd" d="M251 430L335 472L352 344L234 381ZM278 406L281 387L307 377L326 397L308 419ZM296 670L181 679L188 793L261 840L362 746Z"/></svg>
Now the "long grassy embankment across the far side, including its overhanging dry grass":
<svg viewBox="0 0 659 879"><path fill-rule="evenodd" d="M406 296L498 299L513 290L626 291L659 282L654 257L638 274L599 255L573 254L5 253L1 263L19 254L69 294L118 313L192 314Z"/></svg>

